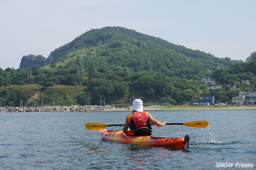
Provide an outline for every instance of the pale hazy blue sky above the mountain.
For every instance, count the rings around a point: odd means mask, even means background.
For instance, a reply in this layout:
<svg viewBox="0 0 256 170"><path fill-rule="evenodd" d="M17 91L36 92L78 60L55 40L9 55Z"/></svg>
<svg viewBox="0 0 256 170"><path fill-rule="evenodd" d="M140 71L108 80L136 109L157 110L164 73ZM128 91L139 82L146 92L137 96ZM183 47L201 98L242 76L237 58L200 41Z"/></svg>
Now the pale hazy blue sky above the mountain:
<svg viewBox="0 0 256 170"><path fill-rule="evenodd" d="M256 51L256 0L0 0L0 67L50 52L91 29L120 26L243 60Z"/></svg>

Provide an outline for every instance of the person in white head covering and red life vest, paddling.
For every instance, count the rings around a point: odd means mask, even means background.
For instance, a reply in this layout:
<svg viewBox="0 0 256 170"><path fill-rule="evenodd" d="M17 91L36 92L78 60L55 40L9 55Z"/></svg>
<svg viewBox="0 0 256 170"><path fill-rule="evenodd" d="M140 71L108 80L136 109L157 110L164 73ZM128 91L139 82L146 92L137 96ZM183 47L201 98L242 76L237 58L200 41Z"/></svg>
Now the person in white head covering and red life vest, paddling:
<svg viewBox="0 0 256 170"><path fill-rule="evenodd" d="M133 101L133 113L130 113L126 117L126 121L123 127L123 133L127 134L128 127L130 127L130 132L132 136L148 136L151 135L151 125L164 126L165 121L158 121L153 116L143 111L143 102L141 99L135 99ZM139 129L141 128L141 129ZM135 131L136 129L139 129ZM134 133L135 132L135 133Z"/></svg>

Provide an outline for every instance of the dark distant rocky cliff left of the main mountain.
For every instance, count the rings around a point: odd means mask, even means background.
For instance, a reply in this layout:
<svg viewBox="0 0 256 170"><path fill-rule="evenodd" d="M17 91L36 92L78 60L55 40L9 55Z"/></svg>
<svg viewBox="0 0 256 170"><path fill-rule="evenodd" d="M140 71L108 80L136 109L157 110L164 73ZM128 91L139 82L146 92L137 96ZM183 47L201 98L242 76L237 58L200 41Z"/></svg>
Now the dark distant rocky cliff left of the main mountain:
<svg viewBox="0 0 256 170"><path fill-rule="evenodd" d="M47 62L45 57L41 55L35 56L33 54L30 54L28 56L22 57L19 68L30 68L34 65L44 66L46 63Z"/></svg>

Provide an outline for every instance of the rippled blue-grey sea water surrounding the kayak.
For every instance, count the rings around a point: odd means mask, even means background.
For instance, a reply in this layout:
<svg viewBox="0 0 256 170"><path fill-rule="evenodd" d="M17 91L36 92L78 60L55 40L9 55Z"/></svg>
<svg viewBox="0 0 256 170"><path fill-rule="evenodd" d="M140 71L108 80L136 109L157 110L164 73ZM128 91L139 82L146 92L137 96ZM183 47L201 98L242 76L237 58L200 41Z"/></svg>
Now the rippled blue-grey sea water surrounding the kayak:
<svg viewBox="0 0 256 170"><path fill-rule="evenodd" d="M255 109L149 111L154 118L167 123L209 121L206 128L153 126L153 135L184 137L189 134L189 149L103 141L97 130L85 127L85 123L90 122L124 124L128 113L0 113L0 169L203 170L230 169L228 164L231 169L256 169ZM237 163L254 167L242 168Z"/></svg>

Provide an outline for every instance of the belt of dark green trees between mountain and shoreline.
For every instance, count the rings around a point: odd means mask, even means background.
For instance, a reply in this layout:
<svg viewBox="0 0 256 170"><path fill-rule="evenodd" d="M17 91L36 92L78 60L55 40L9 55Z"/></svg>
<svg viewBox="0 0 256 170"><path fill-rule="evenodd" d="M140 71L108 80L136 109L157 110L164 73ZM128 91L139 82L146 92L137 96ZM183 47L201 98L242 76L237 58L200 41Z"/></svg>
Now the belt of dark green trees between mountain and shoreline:
<svg viewBox="0 0 256 170"><path fill-rule="evenodd" d="M8 105L19 106L20 98L24 102L36 92L43 91L45 105L51 104L54 97L58 98L56 101L60 105L86 105L88 98L91 104L100 105L100 96L104 97L107 104L129 103L133 94L151 104L187 104L192 97L208 95L215 96L217 102L231 102L239 90L232 90L228 84L235 83L242 91L252 91L256 86L255 66L254 56L250 62L237 63L230 68L208 73L217 79L217 85L222 86L209 91L209 87L197 75L193 75L195 79L190 79L189 69L183 69L180 76L171 77L160 72L134 72L127 66L105 68L102 72L102 67L96 66L93 60L75 57L74 62L64 67L49 66L51 69L45 69L36 65L25 69L0 69L0 99L5 99ZM249 80L250 85L242 85L241 80ZM33 106L35 102L41 105L41 96L30 101L29 105Z"/></svg>

